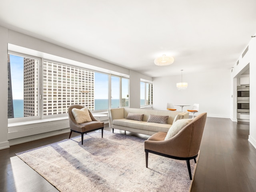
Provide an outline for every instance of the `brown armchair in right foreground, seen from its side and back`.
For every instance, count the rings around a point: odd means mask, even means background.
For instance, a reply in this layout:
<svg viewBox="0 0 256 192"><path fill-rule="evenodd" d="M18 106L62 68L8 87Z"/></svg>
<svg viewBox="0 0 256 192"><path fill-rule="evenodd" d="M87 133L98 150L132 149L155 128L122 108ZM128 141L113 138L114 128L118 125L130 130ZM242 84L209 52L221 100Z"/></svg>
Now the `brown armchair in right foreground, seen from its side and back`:
<svg viewBox="0 0 256 192"><path fill-rule="evenodd" d="M168 158L186 160L190 180L192 180L190 159L196 157L200 148L207 113L196 116L174 137L164 140L167 133L158 132L144 142L146 153L146 167L148 167L148 153L154 153Z"/></svg>

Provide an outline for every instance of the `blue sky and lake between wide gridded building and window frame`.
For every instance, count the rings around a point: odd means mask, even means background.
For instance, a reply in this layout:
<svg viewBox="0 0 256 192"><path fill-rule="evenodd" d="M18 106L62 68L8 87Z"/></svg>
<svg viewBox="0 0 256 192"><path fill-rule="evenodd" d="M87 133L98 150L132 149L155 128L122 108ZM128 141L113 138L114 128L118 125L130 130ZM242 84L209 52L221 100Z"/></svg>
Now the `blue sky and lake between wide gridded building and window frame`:
<svg viewBox="0 0 256 192"><path fill-rule="evenodd" d="M95 72L95 110L108 109L108 75Z"/></svg>

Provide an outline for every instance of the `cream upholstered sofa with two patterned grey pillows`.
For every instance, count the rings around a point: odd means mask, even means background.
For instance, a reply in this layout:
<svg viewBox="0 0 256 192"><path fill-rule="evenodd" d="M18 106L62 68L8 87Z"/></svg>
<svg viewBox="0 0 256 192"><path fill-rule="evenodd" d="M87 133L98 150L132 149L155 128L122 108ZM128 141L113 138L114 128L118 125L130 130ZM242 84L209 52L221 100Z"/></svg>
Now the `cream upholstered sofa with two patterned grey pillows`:
<svg viewBox="0 0 256 192"><path fill-rule="evenodd" d="M128 113L144 114L142 121L126 119ZM169 116L167 124L147 122L150 115ZM161 111L154 109L116 108L109 109L109 127L114 129L153 135L157 132L168 132L173 122L178 119L188 119L189 113L182 111Z"/></svg>

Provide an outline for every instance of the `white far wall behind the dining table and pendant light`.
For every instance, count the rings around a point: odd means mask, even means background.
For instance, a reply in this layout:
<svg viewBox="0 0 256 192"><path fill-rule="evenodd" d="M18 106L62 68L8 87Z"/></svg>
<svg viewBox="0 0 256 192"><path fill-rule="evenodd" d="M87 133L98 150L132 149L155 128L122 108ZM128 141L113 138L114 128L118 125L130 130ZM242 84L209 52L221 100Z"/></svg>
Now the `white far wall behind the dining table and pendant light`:
<svg viewBox="0 0 256 192"><path fill-rule="evenodd" d="M184 73L182 80L188 88L179 91L176 83L180 76L153 78L153 108L166 110L166 103L199 103L198 115L207 112L208 117L230 118L230 71L212 71L208 73ZM184 110L190 107L184 107ZM180 110L180 107L176 108ZM190 114L192 115L192 114Z"/></svg>

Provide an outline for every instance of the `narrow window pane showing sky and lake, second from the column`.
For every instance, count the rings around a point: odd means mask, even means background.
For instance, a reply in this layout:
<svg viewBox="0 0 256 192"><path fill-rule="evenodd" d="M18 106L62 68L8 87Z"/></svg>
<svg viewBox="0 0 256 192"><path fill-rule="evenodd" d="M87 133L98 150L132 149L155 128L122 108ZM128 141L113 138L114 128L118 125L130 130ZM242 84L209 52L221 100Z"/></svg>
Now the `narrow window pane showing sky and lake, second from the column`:
<svg viewBox="0 0 256 192"><path fill-rule="evenodd" d="M120 107L120 78L111 76L111 108Z"/></svg>

